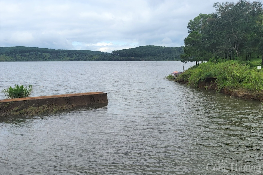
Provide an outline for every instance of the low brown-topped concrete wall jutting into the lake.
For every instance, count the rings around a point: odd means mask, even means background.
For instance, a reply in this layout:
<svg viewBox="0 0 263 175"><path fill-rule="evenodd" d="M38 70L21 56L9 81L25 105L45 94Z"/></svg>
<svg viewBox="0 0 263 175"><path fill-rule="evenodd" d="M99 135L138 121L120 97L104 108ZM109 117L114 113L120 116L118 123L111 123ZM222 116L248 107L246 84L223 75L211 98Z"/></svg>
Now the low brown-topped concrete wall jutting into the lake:
<svg viewBox="0 0 263 175"><path fill-rule="evenodd" d="M88 104L108 103L107 94L104 92L87 92L79 94L51 95L41 97L27 97L17 99L0 100L0 110L27 108L28 106L41 105L69 105L84 106Z"/></svg>

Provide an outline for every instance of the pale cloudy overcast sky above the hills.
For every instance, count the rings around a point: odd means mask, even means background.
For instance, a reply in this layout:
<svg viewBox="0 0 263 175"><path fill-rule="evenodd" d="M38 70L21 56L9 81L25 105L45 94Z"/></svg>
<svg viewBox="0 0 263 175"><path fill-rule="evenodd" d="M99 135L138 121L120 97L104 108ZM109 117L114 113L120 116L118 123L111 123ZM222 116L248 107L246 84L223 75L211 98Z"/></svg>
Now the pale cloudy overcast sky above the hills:
<svg viewBox="0 0 263 175"><path fill-rule="evenodd" d="M0 47L110 53L147 45L183 46L189 20L214 12L214 2L217 0L0 0Z"/></svg>

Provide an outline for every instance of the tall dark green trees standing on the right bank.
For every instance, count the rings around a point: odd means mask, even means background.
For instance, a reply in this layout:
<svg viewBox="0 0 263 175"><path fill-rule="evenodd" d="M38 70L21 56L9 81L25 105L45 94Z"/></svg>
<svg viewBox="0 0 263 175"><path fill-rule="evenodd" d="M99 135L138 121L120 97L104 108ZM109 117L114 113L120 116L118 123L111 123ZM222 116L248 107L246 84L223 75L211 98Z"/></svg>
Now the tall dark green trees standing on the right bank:
<svg viewBox="0 0 263 175"><path fill-rule="evenodd" d="M263 9L259 1L214 3L211 14L199 14L188 22L183 62L211 57L235 60L263 54ZM262 55L263 63L263 55Z"/></svg>

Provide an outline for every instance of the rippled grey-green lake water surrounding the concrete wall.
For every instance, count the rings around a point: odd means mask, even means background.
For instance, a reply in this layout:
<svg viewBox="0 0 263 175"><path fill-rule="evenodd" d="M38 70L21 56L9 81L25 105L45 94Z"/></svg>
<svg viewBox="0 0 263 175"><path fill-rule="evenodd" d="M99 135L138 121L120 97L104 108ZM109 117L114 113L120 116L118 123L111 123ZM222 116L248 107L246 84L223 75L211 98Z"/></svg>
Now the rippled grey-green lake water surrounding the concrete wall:
<svg viewBox="0 0 263 175"><path fill-rule="evenodd" d="M173 71L183 64L0 62L0 89L109 100L0 121L0 174L263 174L262 104L163 79Z"/></svg>

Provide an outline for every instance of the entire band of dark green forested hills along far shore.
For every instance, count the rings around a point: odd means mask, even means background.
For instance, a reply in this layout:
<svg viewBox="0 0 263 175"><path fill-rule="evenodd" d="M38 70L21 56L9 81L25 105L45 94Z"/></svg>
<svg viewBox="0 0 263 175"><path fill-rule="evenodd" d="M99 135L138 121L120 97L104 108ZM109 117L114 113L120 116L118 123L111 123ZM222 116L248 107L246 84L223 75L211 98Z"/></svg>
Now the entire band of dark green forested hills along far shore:
<svg viewBox="0 0 263 175"><path fill-rule="evenodd" d="M0 47L0 61L162 61L179 60L183 47L141 46L110 53L37 47Z"/></svg>

